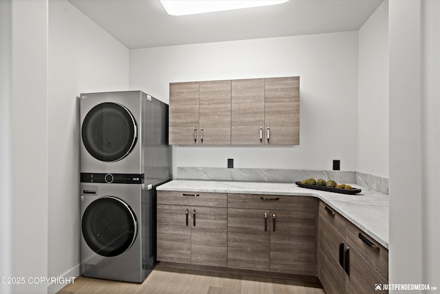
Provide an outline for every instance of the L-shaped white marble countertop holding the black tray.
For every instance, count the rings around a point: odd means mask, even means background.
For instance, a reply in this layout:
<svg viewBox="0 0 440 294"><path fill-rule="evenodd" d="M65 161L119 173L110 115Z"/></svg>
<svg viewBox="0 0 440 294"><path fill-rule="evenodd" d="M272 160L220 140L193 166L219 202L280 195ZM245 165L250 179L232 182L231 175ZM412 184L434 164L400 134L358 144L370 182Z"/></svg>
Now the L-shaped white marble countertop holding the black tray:
<svg viewBox="0 0 440 294"><path fill-rule="evenodd" d="M350 185L362 189L362 192L347 195L300 188L294 183L217 180L172 180L160 185L157 190L316 197L388 249L388 195L359 185Z"/></svg>

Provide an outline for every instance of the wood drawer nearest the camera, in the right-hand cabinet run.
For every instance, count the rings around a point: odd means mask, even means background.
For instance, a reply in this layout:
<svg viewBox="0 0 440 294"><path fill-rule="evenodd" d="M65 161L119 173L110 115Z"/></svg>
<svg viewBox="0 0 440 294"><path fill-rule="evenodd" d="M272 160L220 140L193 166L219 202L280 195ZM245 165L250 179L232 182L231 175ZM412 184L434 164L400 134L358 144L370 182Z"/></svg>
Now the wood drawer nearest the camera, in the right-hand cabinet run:
<svg viewBox="0 0 440 294"><path fill-rule="evenodd" d="M347 241L388 280L388 250L384 246L351 222L347 222Z"/></svg>

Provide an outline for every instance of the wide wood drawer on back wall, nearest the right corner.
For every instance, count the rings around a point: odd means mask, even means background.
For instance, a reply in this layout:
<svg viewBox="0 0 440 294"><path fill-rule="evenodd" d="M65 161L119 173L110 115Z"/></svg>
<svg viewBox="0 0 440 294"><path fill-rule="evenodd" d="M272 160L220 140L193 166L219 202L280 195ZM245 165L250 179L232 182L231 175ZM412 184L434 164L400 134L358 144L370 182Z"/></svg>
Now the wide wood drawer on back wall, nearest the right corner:
<svg viewBox="0 0 440 294"><path fill-rule="evenodd" d="M314 197L307 196L228 193L228 207L230 208L315 211L315 203Z"/></svg>

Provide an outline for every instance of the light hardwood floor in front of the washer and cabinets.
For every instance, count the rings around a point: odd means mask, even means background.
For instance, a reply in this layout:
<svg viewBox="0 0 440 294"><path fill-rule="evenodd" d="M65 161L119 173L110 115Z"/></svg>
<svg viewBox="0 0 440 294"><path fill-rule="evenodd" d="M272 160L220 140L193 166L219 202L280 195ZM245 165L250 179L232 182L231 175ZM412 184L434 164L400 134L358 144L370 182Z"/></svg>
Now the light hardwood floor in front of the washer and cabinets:
<svg viewBox="0 0 440 294"><path fill-rule="evenodd" d="M309 282L173 269L159 264L142 284L78 277L57 294L72 293L325 294L325 291L320 284Z"/></svg>

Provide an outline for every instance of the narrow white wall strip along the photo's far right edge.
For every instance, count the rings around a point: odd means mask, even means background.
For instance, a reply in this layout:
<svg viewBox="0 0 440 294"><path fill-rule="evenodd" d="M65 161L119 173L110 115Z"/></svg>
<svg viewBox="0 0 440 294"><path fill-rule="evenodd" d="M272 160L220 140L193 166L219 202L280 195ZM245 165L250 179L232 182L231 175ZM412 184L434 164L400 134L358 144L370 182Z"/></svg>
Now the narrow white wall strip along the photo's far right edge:
<svg viewBox="0 0 440 294"><path fill-rule="evenodd" d="M440 1L421 2L421 278L440 287Z"/></svg>

